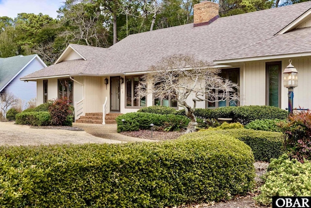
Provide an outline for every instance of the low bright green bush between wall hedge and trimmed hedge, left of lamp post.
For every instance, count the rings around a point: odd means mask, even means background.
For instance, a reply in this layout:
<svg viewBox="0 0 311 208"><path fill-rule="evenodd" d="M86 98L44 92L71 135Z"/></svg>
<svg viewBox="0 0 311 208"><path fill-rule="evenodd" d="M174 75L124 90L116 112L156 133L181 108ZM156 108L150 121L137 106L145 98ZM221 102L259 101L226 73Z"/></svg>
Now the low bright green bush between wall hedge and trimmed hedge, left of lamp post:
<svg viewBox="0 0 311 208"><path fill-rule="evenodd" d="M263 119L263 120L255 120L245 125L245 129L253 129L253 130L261 130L268 132L281 132L281 128L277 125L281 121L280 119Z"/></svg>

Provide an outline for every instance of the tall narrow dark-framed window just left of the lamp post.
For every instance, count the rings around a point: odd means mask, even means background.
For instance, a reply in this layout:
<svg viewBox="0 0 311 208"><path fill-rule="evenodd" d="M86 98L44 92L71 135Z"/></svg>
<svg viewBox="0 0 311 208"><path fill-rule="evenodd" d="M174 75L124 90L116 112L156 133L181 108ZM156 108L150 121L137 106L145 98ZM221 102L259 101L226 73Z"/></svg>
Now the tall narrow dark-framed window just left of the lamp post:
<svg viewBox="0 0 311 208"><path fill-rule="evenodd" d="M266 63L266 105L280 107L281 62Z"/></svg>

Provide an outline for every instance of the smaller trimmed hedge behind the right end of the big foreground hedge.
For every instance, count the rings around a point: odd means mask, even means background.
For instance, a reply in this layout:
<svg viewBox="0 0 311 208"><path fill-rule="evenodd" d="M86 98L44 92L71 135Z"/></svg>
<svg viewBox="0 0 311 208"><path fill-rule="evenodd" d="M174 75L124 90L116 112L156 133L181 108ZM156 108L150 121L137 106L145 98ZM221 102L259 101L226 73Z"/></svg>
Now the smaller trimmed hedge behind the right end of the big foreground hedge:
<svg viewBox="0 0 311 208"><path fill-rule="evenodd" d="M229 135L243 141L254 152L255 160L270 161L284 152L284 137L280 132L255 131L250 129L230 129L197 132L202 135Z"/></svg>

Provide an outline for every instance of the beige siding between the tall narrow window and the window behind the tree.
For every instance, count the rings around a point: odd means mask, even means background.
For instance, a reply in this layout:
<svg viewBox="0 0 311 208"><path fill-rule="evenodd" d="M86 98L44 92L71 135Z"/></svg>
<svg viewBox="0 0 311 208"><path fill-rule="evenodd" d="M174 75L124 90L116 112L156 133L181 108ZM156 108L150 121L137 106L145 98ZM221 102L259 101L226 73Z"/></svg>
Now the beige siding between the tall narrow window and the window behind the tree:
<svg viewBox="0 0 311 208"><path fill-rule="evenodd" d="M245 65L245 87L242 95L243 105L265 105L266 91L265 62L246 63ZM241 80L240 80L241 81Z"/></svg>

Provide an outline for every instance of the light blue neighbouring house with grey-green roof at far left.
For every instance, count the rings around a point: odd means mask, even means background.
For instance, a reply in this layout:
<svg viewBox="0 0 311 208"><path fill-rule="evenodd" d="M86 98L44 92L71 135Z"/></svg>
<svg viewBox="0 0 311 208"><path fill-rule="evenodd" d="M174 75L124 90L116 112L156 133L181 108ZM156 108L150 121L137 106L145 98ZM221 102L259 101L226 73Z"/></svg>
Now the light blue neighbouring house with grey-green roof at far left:
<svg viewBox="0 0 311 208"><path fill-rule="evenodd" d="M37 86L35 82L21 82L19 79L45 67L47 65L36 54L0 58L0 95L12 93L26 104L36 97Z"/></svg>

